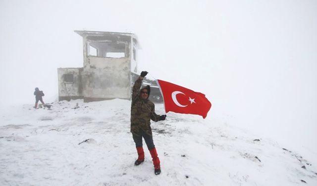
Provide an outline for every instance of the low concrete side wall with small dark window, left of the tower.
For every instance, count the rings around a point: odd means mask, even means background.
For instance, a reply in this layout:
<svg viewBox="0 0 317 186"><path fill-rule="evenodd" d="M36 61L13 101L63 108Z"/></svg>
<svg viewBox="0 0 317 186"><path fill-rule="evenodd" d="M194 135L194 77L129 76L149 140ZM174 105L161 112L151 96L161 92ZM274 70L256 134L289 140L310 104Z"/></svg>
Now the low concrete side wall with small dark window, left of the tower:
<svg viewBox="0 0 317 186"><path fill-rule="evenodd" d="M59 101L82 99L84 97L82 73L83 68L57 68ZM72 74L73 81L65 82L65 74Z"/></svg>

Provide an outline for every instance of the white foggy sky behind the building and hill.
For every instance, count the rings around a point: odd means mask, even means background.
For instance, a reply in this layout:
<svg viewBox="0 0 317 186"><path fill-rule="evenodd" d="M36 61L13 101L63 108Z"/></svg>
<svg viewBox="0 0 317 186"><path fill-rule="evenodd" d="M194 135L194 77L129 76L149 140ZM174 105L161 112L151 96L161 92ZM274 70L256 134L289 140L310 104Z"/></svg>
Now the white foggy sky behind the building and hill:
<svg viewBox="0 0 317 186"><path fill-rule="evenodd" d="M0 104L34 104L35 87L57 100L57 68L83 66L74 30L132 32L138 70L206 94L209 118L317 153L316 10L316 0L0 0Z"/></svg>

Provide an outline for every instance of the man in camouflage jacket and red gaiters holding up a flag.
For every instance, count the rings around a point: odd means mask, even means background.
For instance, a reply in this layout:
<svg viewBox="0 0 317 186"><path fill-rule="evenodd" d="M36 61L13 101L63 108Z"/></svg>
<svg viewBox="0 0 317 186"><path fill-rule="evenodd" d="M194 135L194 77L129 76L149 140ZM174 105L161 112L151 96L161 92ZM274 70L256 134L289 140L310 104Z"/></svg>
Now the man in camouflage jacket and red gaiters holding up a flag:
<svg viewBox="0 0 317 186"><path fill-rule="evenodd" d="M141 85L143 77L148 74L147 71L142 71L139 78L135 81L132 90L132 103L131 103L131 133L135 146L138 152L138 159L135 165L140 165L144 162L144 150L142 137L144 138L154 164L154 173L160 174L159 157L155 148L151 129L151 120L154 122L165 120L166 115L157 115L155 113L155 105L149 100L150 86L142 88Z"/></svg>

